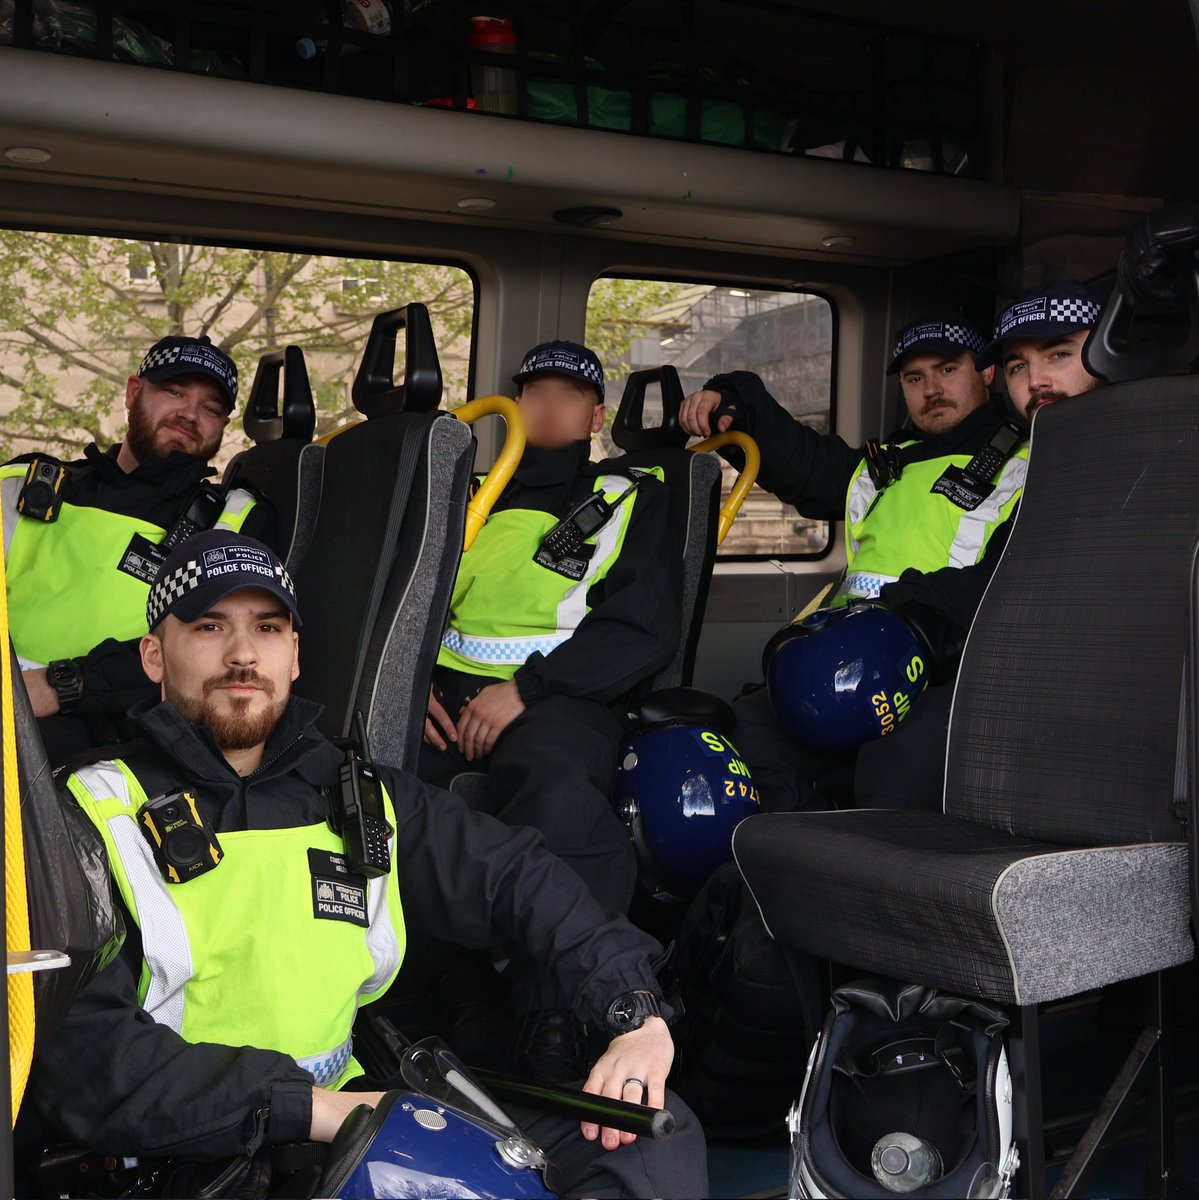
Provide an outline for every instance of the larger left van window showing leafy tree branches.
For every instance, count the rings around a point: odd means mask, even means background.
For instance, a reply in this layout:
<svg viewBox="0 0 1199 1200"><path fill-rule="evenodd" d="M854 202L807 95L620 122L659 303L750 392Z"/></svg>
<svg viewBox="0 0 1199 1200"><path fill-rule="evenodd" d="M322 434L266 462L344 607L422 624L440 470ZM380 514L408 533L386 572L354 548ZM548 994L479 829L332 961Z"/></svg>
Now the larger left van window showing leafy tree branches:
<svg viewBox="0 0 1199 1200"><path fill-rule="evenodd" d="M356 418L350 386L376 313L428 306L444 408L467 397L475 286L442 263L0 229L0 461L77 458L125 424L125 382L168 334L206 334L238 364L239 413L215 463L248 442L258 356L304 350L317 436ZM402 344L402 342L401 342ZM397 372L402 364L396 364Z"/></svg>

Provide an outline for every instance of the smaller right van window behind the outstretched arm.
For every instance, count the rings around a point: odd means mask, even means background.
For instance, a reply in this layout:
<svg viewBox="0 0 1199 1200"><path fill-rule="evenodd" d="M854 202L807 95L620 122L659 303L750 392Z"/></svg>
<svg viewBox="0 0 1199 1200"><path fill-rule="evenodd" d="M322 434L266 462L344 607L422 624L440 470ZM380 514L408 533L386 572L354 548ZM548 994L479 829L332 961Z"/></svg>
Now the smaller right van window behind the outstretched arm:
<svg viewBox="0 0 1199 1200"><path fill-rule="evenodd" d="M714 374L753 371L793 416L827 433L832 418L833 308L819 295L712 283L601 278L587 305L587 341L610 382L612 424L630 371L673 366L684 394ZM661 418L646 397L645 421ZM604 454L619 454L607 428ZM736 479L725 466L724 494ZM721 558L819 558L828 522L807 521L755 487L720 547Z"/></svg>

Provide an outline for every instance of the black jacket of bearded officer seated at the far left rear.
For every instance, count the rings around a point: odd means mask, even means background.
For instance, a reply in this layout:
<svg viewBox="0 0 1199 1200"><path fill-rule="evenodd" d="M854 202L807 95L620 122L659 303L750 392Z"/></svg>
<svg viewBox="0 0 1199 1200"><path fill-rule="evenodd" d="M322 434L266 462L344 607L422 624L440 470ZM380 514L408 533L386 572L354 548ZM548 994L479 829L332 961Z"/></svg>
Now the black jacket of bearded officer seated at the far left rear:
<svg viewBox="0 0 1199 1200"><path fill-rule="evenodd" d="M184 506L196 488L216 468L196 455L172 450L166 458L148 458L134 470L125 472L116 464L120 445L107 452L92 443L83 458L68 463L71 470L67 499L80 508L103 509L122 516L149 521L169 530L179 520ZM22 455L13 462L26 462ZM278 529L275 510L259 500L246 516L242 532L275 547ZM80 604L88 598L80 596ZM118 642L108 638L78 659L83 668L83 696L73 712L124 713L134 704L152 700L158 689L142 670L137 641Z"/></svg>

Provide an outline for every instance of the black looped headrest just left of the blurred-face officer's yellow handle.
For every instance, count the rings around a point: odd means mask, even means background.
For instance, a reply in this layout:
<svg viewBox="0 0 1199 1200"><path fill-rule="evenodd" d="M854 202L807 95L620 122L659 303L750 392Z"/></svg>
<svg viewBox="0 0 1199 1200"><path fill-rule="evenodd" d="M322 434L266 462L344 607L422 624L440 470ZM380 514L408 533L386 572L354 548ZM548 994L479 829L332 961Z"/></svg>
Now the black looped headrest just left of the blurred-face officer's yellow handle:
<svg viewBox="0 0 1199 1200"><path fill-rule="evenodd" d="M396 335L404 331L403 383L395 382ZM371 324L354 377L354 407L364 416L431 413L442 402L442 365L428 308L408 304L380 312Z"/></svg>

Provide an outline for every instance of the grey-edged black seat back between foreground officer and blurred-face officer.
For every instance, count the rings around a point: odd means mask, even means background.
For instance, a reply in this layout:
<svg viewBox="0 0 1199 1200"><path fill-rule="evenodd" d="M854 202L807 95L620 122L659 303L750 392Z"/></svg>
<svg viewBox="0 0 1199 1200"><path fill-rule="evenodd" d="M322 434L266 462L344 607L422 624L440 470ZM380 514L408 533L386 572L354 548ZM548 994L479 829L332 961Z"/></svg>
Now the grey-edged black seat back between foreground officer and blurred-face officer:
<svg viewBox="0 0 1199 1200"><path fill-rule="evenodd" d="M414 454L409 478L400 469ZM406 766L462 550L473 439L445 413L392 413L325 448L320 512L295 576L304 613L295 690L328 736L355 710L380 762Z"/></svg>

